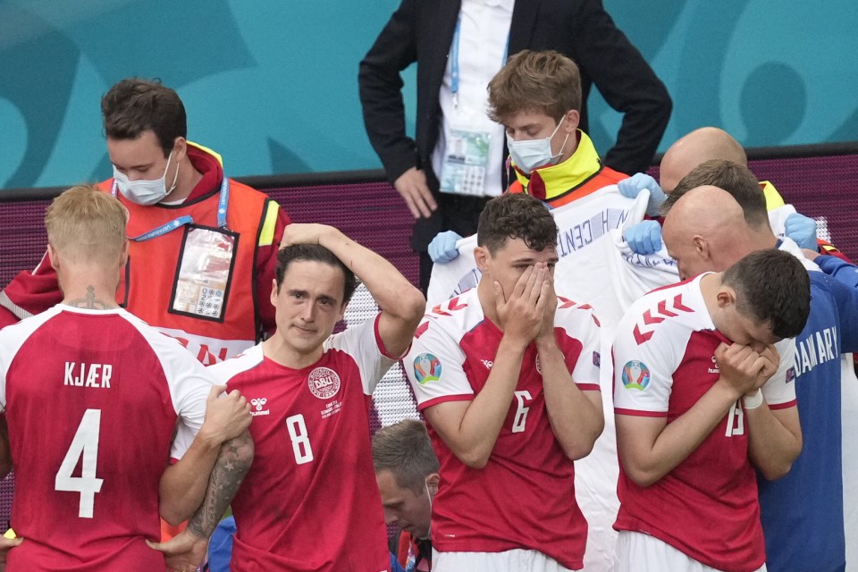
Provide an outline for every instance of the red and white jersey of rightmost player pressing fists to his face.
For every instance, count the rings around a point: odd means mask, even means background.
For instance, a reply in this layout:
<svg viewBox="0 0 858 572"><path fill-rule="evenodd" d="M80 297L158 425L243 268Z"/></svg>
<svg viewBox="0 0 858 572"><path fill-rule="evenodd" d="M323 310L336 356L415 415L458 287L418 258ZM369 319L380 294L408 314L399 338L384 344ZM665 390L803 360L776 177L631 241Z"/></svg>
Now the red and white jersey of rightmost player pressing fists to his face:
<svg viewBox="0 0 858 572"><path fill-rule="evenodd" d="M715 330L700 279L655 290L629 308L614 341L614 408L672 423L719 379ZM769 407L795 407L795 341L776 345L780 368L762 391ZM621 446L621 443L619 444ZM756 475L741 400L684 461L648 487L620 464L617 530L652 534L712 568L755 570L766 554Z"/></svg>

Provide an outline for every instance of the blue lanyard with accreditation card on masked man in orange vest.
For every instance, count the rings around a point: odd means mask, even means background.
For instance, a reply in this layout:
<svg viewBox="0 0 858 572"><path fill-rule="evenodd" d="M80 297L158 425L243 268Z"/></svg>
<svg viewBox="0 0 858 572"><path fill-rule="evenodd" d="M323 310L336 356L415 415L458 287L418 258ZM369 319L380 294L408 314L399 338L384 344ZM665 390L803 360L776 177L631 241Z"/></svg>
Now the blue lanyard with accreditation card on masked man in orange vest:
<svg viewBox="0 0 858 572"><path fill-rule="evenodd" d="M115 197L115 181L111 192ZM235 265L234 253L239 240L239 235L226 226L229 200L230 181L224 175L218 194L216 228L195 224L193 217L185 214L129 238L134 242L146 242L184 228L181 256L170 307L167 308L171 314L223 322L232 268Z"/></svg>

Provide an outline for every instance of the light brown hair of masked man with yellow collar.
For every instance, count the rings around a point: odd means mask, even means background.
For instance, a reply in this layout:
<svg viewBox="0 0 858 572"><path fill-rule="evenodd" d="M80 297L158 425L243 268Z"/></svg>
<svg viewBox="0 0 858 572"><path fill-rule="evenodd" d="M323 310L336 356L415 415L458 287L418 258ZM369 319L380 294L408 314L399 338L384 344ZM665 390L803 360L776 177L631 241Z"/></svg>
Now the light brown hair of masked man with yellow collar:
<svg viewBox="0 0 858 572"><path fill-rule="evenodd" d="M569 110L581 111L581 72L554 50L524 50L513 55L489 82L493 122L520 112L546 114L555 121Z"/></svg>

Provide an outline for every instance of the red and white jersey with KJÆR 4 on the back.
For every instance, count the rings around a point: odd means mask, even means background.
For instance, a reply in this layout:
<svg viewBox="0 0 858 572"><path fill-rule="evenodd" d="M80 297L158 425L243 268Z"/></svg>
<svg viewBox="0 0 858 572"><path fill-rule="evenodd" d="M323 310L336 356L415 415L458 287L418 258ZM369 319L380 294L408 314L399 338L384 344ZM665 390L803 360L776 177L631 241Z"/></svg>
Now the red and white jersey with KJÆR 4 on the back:
<svg viewBox="0 0 858 572"><path fill-rule="evenodd" d="M164 569L158 484L181 457L210 376L125 310L55 306L0 331L0 406L15 469L7 570Z"/></svg>

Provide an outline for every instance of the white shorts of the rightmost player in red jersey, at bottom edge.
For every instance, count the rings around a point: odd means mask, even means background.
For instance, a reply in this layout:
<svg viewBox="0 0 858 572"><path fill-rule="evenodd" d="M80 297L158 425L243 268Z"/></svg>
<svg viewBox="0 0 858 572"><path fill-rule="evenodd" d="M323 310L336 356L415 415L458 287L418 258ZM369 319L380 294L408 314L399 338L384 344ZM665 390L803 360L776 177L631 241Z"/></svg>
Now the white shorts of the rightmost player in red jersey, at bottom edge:
<svg viewBox="0 0 858 572"><path fill-rule="evenodd" d="M619 531L617 557L617 572L719 572L655 536L628 530ZM766 572L766 565L755 572Z"/></svg>

